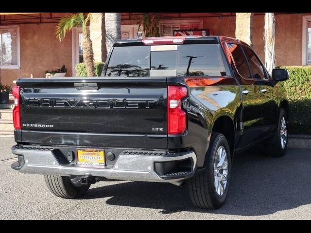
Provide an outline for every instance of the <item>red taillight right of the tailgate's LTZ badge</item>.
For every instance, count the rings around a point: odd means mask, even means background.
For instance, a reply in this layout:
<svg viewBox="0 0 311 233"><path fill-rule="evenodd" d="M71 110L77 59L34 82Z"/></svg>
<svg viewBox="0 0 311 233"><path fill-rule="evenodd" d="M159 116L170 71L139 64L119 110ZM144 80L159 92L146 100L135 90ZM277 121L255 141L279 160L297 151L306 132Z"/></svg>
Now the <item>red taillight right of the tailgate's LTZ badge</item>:
<svg viewBox="0 0 311 233"><path fill-rule="evenodd" d="M185 133L186 112L181 108L181 100L187 97L187 87L168 86L167 92L167 131L168 134Z"/></svg>

